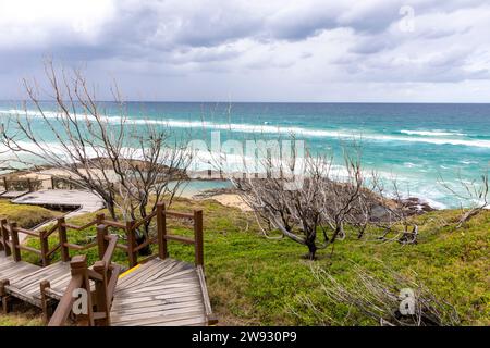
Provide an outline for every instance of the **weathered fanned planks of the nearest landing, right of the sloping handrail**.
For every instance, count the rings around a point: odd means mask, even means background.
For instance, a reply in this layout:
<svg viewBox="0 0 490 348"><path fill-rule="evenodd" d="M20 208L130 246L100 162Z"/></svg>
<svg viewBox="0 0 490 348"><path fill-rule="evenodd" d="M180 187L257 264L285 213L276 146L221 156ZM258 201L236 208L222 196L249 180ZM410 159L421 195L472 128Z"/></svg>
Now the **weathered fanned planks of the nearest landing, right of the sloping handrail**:
<svg viewBox="0 0 490 348"><path fill-rule="evenodd" d="M157 258L118 282L111 309L113 326L206 324L205 298L194 265Z"/></svg>

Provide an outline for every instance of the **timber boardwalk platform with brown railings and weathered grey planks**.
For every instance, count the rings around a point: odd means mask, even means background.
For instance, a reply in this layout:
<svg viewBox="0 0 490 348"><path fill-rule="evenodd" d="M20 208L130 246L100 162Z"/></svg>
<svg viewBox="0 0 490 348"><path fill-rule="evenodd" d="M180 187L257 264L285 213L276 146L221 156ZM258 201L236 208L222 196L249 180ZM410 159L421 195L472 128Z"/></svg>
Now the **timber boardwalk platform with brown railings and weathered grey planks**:
<svg viewBox="0 0 490 348"><path fill-rule="evenodd" d="M192 224L194 238L171 234L168 220ZM137 244L138 229L155 227L156 234ZM94 241L78 245L68 231L96 228ZM20 234L38 240L40 250L20 243ZM168 241L194 247L194 263L172 259ZM140 251L156 246L156 253L140 259ZM97 260L88 264L88 249ZM113 262L123 250L128 266ZM71 251L75 251L71 256ZM35 253L40 265L21 259L21 251ZM54 256L60 256L53 262ZM83 297L83 294L90 294ZM76 295L75 295L76 294ZM0 221L0 299L4 313L14 301L41 309L49 326L180 326L208 325L212 314L204 272L203 211L167 210L163 203L145 219L118 222L98 214L83 226L59 217L46 229L30 231ZM74 303L86 300L86 312L74 312Z"/></svg>

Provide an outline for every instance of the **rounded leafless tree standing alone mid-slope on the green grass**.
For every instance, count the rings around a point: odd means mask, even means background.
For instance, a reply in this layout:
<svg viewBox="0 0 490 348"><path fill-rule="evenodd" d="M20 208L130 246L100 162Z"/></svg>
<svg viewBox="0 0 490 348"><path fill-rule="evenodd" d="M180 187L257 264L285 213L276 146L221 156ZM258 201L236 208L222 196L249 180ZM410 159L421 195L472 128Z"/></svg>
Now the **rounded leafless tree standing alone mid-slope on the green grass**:
<svg viewBox="0 0 490 348"><path fill-rule="evenodd" d="M308 259L314 260L318 249L345 237L344 225L359 222L365 181L358 157L344 153L342 173L333 166L332 158L307 153L302 161L298 187L287 185L293 184L290 174L294 173L296 159L278 163L271 157L262 160L262 177L247 175L232 177L232 182L258 219L306 246Z"/></svg>

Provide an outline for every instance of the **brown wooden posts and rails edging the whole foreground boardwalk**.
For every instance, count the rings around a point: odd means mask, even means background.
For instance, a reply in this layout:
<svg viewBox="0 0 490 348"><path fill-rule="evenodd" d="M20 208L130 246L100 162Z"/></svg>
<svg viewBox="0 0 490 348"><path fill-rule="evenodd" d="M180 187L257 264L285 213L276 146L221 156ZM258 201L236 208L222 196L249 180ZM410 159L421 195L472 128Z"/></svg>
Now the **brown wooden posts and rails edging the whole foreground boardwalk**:
<svg viewBox="0 0 490 348"><path fill-rule="evenodd" d="M148 227L156 219L157 234L154 237L148 237L143 244L136 244L136 231L142 226ZM184 219L193 222L194 238L173 235L169 233L167 220L168 219ZM84 231L91 226L97 226L97 238L95 241L81 246L69 241L68 231ZM123 231L126 237L126 244L119 244L117 235L110 235L109 228ZM58 232L58 243L49 249L48 238ZM24 233L28 236L39 238L40 250L36 250L28 246L20 244L19 234ZM169 257L168 241L174 240L186 245L193 245L195 251L195 264L201 282L201 288L206 290L204 279L204 248L203 248L203 211L196 210L193 213L182 213L170 211L160 202L157 209L145 219L137 222L130 221L125 223L106 219L105 214L96 215L95 220L87 222L85 225L78 226L68 223L64 217L59 217L53 226L48 229L34 232L19 227L15 223L8 223L5 220L0 221L0 250L3 250L7 256L12 254L13 260L21 260L21 250L34 252L41 258L42 265L48 265L54 252L60 251L61 261L69 262L71 260L72 279L66 288L64 296L57 307L54 314L49 321L49 325L57 326L66 323L69 315L72 312L72 306L76 298L73 297L75 289L85 289L88 296L88 312L82 315L82 319L87 325L109 325L109 312L112 304L112 297L114 294L118 276L121 268L111 262L115 249L124 250L128 256L130 268L138 264L139 251L151 244L158 245L158 252L154 256L147 257L139 262L145 262L151 258L159 257L167 259ZM89 248L98 248L99 261L93 265L93 270L87 268L87 259L85 256L70 257L70 250L82 251ZM90 282L95 283L95 289L90 288ZM40 284L42 306L47 307L46 291L50 287L49 282ZM208 298L207 295L205 298ZM205 303L206 311L209 313L208 321L213 322L211 307ZM47 313L47 308L44 308L44 313Z"/></svg>

